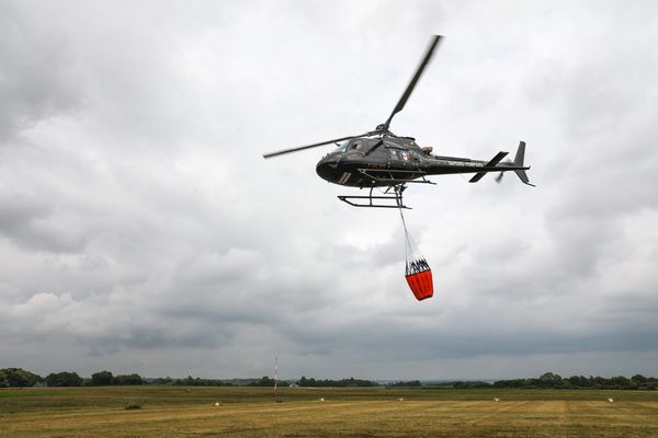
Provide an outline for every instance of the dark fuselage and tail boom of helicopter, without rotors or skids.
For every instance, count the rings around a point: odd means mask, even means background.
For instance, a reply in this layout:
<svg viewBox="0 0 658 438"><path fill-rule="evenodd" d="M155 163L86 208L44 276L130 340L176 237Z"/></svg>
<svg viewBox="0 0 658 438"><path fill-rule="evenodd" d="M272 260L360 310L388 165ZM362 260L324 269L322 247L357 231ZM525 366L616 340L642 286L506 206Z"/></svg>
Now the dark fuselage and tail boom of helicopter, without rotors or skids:
<svg viewBox="0 0 658 438"><path fill-rule="evenodd" d="M502 157L507 154L501 153ZM529 168L515 165L511 161L491 163L468 158L433 155L428 148L420 148L410 137L354 138L325 155L316 165L316 172L321 178L351 187L390 186L429 175L525 169Z"/></svg>

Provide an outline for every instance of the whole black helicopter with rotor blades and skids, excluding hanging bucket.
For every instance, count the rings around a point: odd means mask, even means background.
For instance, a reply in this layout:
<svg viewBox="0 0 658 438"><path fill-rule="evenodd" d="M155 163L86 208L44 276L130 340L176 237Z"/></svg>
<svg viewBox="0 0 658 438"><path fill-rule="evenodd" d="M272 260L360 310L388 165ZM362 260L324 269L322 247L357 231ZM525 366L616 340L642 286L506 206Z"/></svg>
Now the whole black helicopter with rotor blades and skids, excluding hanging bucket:
<svg viewBox="0 0 658 438"><path fill-rule="evenodd" d="M500 182L503 172L514 171L521 182L530 183L525 173L530 166L524 165L525 142L521 141L514 161L502 161L508 152L498 152L489 161L470 160L458 157L441 157L432 154L432 148L419 147L412 137L400 137L393 134L388 127L393 117L399 113L407 103L416 83L430 61L434 49L441 41L441 35L434 35L430 46L418 66L413 78L407 85L405 93L388 116L388 119L377 126L375 130L359 136L349 136L333 140L322 141L271 152L263 158L297 152L318 146L343 141L336 150L324 157L317 164L316 171L320 177L330 183L370 188L368 196L343 195L338 198L354 207L383 207L408 208L402 203L402 192L409 183L435 184L427 180L430 175L445 175L457 173L475 173L469 180L477 183L489 172L500 172L497 182ZM382 195L373 196L375 187L386 187Z"/></svg>

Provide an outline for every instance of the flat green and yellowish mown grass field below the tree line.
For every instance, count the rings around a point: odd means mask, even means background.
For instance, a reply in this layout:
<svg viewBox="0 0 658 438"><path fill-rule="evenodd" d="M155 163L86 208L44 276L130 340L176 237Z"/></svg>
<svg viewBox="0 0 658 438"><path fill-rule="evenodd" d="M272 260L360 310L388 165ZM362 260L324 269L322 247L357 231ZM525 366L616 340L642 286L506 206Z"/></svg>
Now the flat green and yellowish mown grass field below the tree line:
<svg viewBox="0 0 658 438"><path fill-rule="evenodd" d="M280 399L265 388L0 390L0 437L658 437L650 391L286 388Z"/></svg>

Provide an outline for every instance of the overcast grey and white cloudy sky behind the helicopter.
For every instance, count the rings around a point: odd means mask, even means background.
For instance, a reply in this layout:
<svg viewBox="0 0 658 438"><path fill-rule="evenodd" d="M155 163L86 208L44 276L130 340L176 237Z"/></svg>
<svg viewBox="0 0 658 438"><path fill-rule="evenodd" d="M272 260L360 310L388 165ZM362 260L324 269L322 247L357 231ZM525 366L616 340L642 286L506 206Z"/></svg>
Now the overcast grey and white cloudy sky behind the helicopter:
<svg viewBox="0 0 658 438"><path fill-rule="evenodd" d="M350 208L383 123L513 174ZM0 0L0 368L206 378L658 374L658 5ZM356 193L354 193L356 192Z"/></svg>

